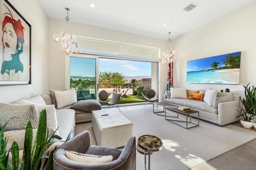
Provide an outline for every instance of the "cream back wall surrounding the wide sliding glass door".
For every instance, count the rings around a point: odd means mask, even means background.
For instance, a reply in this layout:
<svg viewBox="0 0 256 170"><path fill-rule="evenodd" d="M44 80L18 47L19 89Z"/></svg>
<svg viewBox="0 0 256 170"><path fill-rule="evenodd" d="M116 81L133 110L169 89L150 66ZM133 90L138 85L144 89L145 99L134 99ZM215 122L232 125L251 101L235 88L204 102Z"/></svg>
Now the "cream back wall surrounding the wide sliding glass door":
<svg viewBox="0 0 256 170"><path fill-rule="evenodd" d="M72 20L72 18L71 18ZM66 20L58 20L55 18L48 18L48 89L63 89L66 88L65 79L65 55L61 51L60 43L54 42L52 36L60 33ZM116 42L131 43L136 45L145 45L150 47L158 47L166 49L168 41L151 38L147 36L140 36L127 32L120 32L96 26L80 24L76 22L69 22L70 30L73 34L78 36L98 38L103 40L110 40ZM168 35L166 35L168 38ZM166 89L168 65L160 64L160 98L162 99ZM57 87L57 83L60 86Z"/></svg>

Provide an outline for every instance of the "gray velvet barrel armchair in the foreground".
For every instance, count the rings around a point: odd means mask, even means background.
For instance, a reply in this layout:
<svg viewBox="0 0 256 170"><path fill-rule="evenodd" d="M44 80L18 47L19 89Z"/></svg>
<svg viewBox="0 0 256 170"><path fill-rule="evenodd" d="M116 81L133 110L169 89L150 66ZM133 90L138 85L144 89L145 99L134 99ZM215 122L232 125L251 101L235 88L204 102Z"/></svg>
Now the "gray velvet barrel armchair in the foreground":
<svg viewBox="0 0 256 170"><path fill-rule="evenodd" d="M114 140L114 139L113 139ZM74 152L112 155L112 162L103 164L82 164L69 160L66 150ZM135 170L136 169L136 140L130 137L124 150L91 145L90 132L85 130L60 146L53 156L54 170Z"/></svg>

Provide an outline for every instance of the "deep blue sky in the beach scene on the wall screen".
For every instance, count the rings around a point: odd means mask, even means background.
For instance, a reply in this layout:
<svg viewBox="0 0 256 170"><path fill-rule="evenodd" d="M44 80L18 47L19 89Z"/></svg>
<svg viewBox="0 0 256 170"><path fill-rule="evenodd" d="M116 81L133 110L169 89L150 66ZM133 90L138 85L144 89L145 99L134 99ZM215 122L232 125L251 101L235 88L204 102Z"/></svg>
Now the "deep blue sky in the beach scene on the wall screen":
<svg viewBox="0 0 256 170"><path fill-rule="evenodd" d="M218 55L214 57L208 57L208 58L203 58L203 59L196 59L192 61L187 62L187 71L201 71L205 69L211 69L212 67L210 66L214 61L216 61L219 67L224 66L223 64L224 61L221 61L222 59L225 59L226 56L229 56L230 54L233 54L234 57L238 55L241 52L235 52L235 53L229 53L229 54L224 54L224 55Z"/></svg>

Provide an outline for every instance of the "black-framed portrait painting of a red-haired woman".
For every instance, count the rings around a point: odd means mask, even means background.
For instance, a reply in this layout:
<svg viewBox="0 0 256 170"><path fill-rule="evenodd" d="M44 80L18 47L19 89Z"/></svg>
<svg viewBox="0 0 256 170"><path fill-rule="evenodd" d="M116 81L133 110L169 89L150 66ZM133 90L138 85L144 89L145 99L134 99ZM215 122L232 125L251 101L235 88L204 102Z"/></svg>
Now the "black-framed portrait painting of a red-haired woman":
<svg viewBox="0 0 256 170"><path fill-rule="evenodd" d="M10 2L0 2L0 85L30 84L31 26Z"/></svg>

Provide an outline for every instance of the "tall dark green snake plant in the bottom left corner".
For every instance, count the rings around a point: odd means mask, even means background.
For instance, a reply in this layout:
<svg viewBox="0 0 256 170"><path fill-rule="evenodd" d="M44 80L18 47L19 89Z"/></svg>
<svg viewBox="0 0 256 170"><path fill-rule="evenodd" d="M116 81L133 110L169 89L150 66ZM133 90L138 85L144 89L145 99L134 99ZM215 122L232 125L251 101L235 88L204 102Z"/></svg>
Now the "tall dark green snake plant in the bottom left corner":
<svg viewBox="0 0 256 170"><path fill-rule="evenodd" d="M55 147L54 150L50 152L50 154L48 152L46 156L43 156L43 154L44 152L46 152L46 150L48 150L48 148L50 148L50 146L52 146L52 144L60 141L62 138L58 135L55 135L56 131L51 136L49 136L49 130L46 127L46 111L42 110L42 112L40 113L38 129L36 132L36 138L33 146L32 146L32 138L33 138L32 125L30 121L27 124L26 132L24 136L24 150L23 150L23 156L22 156L22 164L20 167L19 167L20 155L19 155L18 144L14 141L12 143L10 150L8 150L8 152L6 149L8 140L4 138L4 130L8 122L6 122L6 124L3 126L3 128L0 131L0 169L1 170L39 170L41 168L46 170L52 170L53 154L57 148ZM66 141L68 141L71 138L73 132L74 132L74 128L71 130ZM57 140L52 140L52 138L55 138ZM10 152L12 154L12 162L8 160ZM45 159L43 166L42 166L42 159Z"/></svg>

